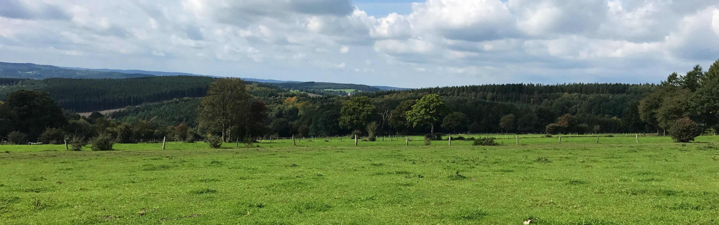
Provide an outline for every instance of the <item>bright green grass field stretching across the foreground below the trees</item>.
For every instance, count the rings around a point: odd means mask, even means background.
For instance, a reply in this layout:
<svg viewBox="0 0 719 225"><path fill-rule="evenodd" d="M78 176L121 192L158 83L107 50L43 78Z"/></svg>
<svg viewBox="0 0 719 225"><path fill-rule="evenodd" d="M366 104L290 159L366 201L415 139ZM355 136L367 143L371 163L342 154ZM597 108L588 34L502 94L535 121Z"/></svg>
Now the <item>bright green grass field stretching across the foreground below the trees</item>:
<svg viewBox="0 0 719 225"><path fill-rule="evenodd" d="M719 224L719 137L309 140L0 145L0 224Z"/></svg>

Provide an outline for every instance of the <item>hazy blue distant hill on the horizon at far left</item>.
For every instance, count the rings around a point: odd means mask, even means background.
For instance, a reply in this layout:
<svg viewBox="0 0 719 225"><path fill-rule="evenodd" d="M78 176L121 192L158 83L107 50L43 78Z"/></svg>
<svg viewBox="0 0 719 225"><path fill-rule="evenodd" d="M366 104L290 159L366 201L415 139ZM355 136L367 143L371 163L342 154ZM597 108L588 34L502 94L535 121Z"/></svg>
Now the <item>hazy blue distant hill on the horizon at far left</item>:
<svg viewBox="0 0 719 225"><path fill-rule="evenodd" d="M32 63L1 63L0 78L139 78L154 76L139 73L118 73L93 70L72 70L54 65L37 65Z"/></svg>

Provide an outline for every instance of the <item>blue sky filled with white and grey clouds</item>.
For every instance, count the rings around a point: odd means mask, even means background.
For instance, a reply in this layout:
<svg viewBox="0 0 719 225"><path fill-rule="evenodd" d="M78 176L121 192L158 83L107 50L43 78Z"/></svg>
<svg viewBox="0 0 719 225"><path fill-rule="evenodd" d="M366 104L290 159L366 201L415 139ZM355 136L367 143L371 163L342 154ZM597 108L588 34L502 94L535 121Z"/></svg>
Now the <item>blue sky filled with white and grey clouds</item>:
<svg viewBox="0 0 719 225"><path fill-rule="evenodd" d="M659 83L715 0L0 0L0 61L421 88Z"/></svg>

